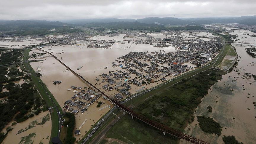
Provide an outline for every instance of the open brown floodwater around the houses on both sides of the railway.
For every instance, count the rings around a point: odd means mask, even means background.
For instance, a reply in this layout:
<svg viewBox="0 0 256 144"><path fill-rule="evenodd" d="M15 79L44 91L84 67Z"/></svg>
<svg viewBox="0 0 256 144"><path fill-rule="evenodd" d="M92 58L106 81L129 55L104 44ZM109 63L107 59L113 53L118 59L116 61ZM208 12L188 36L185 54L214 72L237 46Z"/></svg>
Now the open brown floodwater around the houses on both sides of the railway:
<svg viewBox="0 0 256 144"><path fill-rule="evenodd" d="M166 37L164 34L152 34L159 37ZM105 39L105 40L113 40L116 41L123 41L124 35L119 36L93 36L90 39ZM125 39L137 39L136 37L133 38L125 38ZM123 48L127 47L127 48ZM60 59L65 65L70 67L73 71L83 76L86 80L96 85L96 77L102 80L101 77L99 77L102 73L109 73L109 71L116 71L123 69L119 67L112 67L112 62L114 62L117 58L126 55L127 53L131 51L136 52L154 52L154 51L160 51L165 50L165 52L176 52L175 47L169 46L165 48L159 48L159 47L153 47L153 45L150 44L133 44L131 41L130 44L125 42L125 44L113 44L108 49L96 49L96 48L87 48L86 44L82 44L81 46L77 47L76 45L72 46L52 46L50 47L44 47L43 50L46 50L48 52L52 52L53 55L55 55L58 59ZM33 52L39 52L41 51L33 49L30 54ZM61 54L57 54L61 53ZM48 55L48 54L47 54ZM46 57L43 58L46 59L44 61L40 62L33 62L31 63L32 68L37 71L37 67L41 68L41 74L42 74L42 81L44 84L47 85L50 92L53 94L57 102L60 104L61 107L63 107L66 100L71 99L71 97L75 94L73 91L67 91L67 89L70 89L71 86L76 87L88 87L88 85L84 84L83 81L81 81L78 77L76 77L73 73L66 70L66 68L60 64L57 60L55 60L53 57ZM148 63L148 62L147 62ZM186 63L185 63L186 64ZM80 70L76 70L79 67L82 67ZM107 69L105 69L107 67ZM132 76L132 75L131 75ZM170 77L171 78L171 77ZM54 85L52 81L63 81L61 84ZM98 88L101 89L102 85L97 85ZM160 83L159 83L160 84ZM144 85L145 88L149 88L152 86L156 86L157 83L154 84L148 84ZM140 89L139 87L135 85L132 86L132 92L135 92L135 90ZM106 94L113 95L117 91L113 90ZM109 101L103 100L102 98L99 98L97 101L103 101L105 102L104 105L101 106L104 107L106 105L113 106ZM76 129L79 129L80 125L87 119L87 121L84 123L84 125L81 127L81 135L76 136L77 139L81 138L82 135L85 135L86 131L88 131L91 128L91 125L94 124L98 119L100 119L107 111L109 111L109 108L104 108L103 110L99 111L99 108L96 108L97 103L94 103L93 105L90 105L88 108L88 111L85 113L78 112L76 116ZM76 109L76 108L74 108Z"/></svg>

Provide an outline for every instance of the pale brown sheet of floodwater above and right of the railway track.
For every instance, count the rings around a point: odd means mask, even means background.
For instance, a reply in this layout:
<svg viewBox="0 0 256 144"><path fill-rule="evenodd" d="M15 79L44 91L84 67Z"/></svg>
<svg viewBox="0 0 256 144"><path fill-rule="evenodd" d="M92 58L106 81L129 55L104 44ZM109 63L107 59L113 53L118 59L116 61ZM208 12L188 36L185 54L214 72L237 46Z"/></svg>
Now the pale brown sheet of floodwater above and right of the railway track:
<svg viewBox="0 0 256 144"><path fill-rule="evenodd" d="M188 33L184 33L187 34ZM201 33L194 33L196 35L200 36L212 36L211 33L206 33L206 32L201 32ZM170 35L165 36L165 33L150 33L149 35L154 36L156 38L165 38ZM94 40L116 40L116 41L123 41L124 35L119 35L119 36L92 36L90 39ZM137 39L137 36L130 38L127 37L125 39ZM141 39L141 37L140 37ZM207 39L207 38L206 38ZM127 47L127 48L123 48ZM79 73L81 76L83 76L85 79L90 81L91 83L95 83L96 77L99 77L100 74L102 73L109 73L109 71L116 71L116 70L121 70L124 71L122 68L119 67L112 67L112 62L115 62L115 60L123 55L126 55L127 53L131 51L135 52L159 52L160 50L164 50L165 52L176 52L177 50L173 46L169 47L164 47L164 48L159 48L159 47L153 47L153 45L150 44L133 44L131 41L130 43L125 42L125 44L113 44L110 48L108 49L97 49L97 48L87 48L87 44L82 44L81 46L53 46L51 47L51 50L49 47L44 47L43 50L46 50L48 52L52 52L53 55L58 57L61 61L63 61L68 67L70 67L73 71L76 71ZM33 52L39 52L36 50L33 50ZM57 54L61 53L61 54ZM47 58L48 59L48 58ZM48 63L47 61L44 61L43 63ZM52 65L52 63L50 63ZM187 65L191 65L189 63L185 63ZM39 65L37 65L39 66ZM48 66L48 65L46 65ZM52 65L53 66L53 65ZM51 69L50 71L58 71L63 72L64 70L59 70L55 67L49 66ZM56 63L55 63L56 66ZM82 67L80 70L76 70L79 67ZM35 66L36 67L36 66ZM105 69L107 67L107 69ZM54 68L55 70L52 70ZM47 68L48 69L48 68ZM50 71L47 71L50 72ZM46 72L46 71L45 71ZM143 73L143 72L142 72ZM48 76L48 74L46 74ZM67 77L65 77L67 78ZM172 77L167 77L167 79L171 79ZM64 80L63 78L59 80ZM98 88L101 88L102 85L100 84L97 85ZM147 85L145 88L156 86L157 84L150 84ZM132 86L132 93L135 92L135 90L140 89L139 87ZM116 93L115 92L110 92L109 95Z"/></svg>

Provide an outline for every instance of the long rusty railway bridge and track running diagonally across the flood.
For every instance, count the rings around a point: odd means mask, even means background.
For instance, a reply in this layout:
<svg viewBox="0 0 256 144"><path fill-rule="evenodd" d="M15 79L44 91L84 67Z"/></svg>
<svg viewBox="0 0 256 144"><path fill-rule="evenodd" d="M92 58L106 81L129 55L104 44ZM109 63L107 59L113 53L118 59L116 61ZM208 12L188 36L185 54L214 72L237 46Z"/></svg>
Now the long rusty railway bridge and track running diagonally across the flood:
<svg viewBox="0 0 256 144"><path fill-rule="evenodd" d="M195 143L195 144L209 144L203 140L199 140L195 137L192 137L190 135L186 135L182 132L178 132L177 130L171 129L166 125L160 124L156 121L152 121L151 119L146 118L145 116L142 116L134 111L132 111L131 109L127 108L125 105L121 104L119 101L112 99L110 97L108 97L105 93L103 93L100 89L98 89L97 87L95 87L93 84L91 84L89 81L85 80L84 77L80 76L79 74L77 74L75 71L73 71L71 68L69 68L67 65L65 65L62 61L60 61L56 56L52 55L50 52L47 52L45 50L42 49L37 49L36 50L48 53L49 55L51 55L52 57L54 57L57 61L59 61L62 65L64 65L67 69L69 69L73 74L75 74L77 77L79 77L82 81L86 82L87 84L89 84L91 87L93 87L94 89L96 89L98 92L100 92L102 95L104 95L105 97L107 97L112 103L114 103L116 106L118 106L119 108L121 108L122 110L124 110L125 112L129 113L132 117L135 117L149 125L151 125L152 127L155 127L161 131L163 131L164 133L168 133L170 135L176 136L178 138L182 138L188 142L191 143Z"/></svg>

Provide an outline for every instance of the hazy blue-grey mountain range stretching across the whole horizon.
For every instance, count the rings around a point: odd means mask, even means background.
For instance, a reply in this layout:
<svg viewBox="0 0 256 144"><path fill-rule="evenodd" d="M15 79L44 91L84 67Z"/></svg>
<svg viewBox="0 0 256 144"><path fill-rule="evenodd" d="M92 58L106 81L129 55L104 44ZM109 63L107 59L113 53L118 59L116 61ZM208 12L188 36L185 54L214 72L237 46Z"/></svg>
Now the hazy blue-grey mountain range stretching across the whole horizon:
<svg viewBox="0 0 256 144"><path fill-rule="evenodd" d="M143 19L80 19L80 20L0 20L0 30L27 28L27 27L43 27L52 28L53 26L75 26L88 23L115 23L115 22L139 22L145 24L163 24L163 25L202 25L210 23L240 23L246 25L256 25L255 16L242 17L208 17L208 18L174 18L174 17L145 17Z"/></svg>

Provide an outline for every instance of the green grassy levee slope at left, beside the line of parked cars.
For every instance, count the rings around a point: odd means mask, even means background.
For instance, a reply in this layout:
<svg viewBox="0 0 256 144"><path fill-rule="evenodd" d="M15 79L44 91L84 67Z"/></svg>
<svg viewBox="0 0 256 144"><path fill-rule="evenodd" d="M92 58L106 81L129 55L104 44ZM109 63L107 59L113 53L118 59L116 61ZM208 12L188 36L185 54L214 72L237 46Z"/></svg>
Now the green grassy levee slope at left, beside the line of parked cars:
<svg viewBox="0 0 256 144"><path fill-rule="evenodd" d="M45 100L47 106L54 107L54 104L52 103L52 101L50 100L50 98L48 96L48 94L49 94L50 97L52 98L52 100L54 101L54 103L57 105L58 110L62 113L62 108L57 103L57 101L55 100L55 98L51 94L51 92L48 90L47 86L43 83L43 81L40 79L40 77L36 76L36 73L33 70L33 68L31 67L31 65L29 63L25 62L28 59L29 51L30 51L30 48L24 50L23 65L24 65L25 69L28 71L28 73L31 74L30 75L31 79L34 82L41 97ZM23 65L21 65L21 68L23 68ZM41 84L39 83L39 81L41 82ZM48 94L46 92L48 92ZM52 137L56 137L58 135L59 119L58 119L57 111L55 108L52 109L51 120L52 120L52 132L51 132L51 138L50 138L49 143L51 143Z"/></svg>

